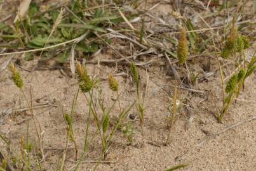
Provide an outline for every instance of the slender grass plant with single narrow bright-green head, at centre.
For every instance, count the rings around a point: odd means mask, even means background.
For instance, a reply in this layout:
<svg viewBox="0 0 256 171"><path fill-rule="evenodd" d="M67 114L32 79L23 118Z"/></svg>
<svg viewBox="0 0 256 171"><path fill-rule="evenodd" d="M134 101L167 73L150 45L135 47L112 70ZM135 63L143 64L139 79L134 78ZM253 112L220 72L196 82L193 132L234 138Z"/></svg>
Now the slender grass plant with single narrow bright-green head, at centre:
<svg viewBox="0 0 256 171"><path fill-rule="evenodd" d="M140 88L139 88L139 74L138 70L135 66L135 63L131 63L131 76L133 77L133 81L136 85L137 90L137 111L138 111L138 117L140 118L140 129L142 131L142 135L144 133L144 101L142 101L141 95L140 95Z"/></svg>

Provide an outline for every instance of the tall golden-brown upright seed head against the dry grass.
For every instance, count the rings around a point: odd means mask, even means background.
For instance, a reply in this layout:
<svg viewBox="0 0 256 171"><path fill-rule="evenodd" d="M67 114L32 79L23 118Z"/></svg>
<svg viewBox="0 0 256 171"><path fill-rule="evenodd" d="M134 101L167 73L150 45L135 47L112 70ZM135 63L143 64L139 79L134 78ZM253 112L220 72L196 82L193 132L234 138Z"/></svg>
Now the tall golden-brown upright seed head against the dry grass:
<svg viewBox="0 0 256 171"><path fill-rule="evenodd" d="M182 65L189 55L189 47L187 47L187 38L185 37L185 28L180 33L179 44L177 49L177 57L180 65Z"/></svg>

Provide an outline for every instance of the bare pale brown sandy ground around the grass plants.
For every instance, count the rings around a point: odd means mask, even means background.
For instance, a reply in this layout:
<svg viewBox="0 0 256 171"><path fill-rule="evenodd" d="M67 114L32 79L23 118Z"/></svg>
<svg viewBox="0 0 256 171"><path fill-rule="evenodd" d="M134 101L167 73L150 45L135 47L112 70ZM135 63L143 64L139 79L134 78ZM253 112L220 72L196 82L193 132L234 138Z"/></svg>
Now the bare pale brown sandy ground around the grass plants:
<svg viewBox="0 0 256 171"><path fill-rule="evenodd" d="M159 6L168 11L168 6ZM159 9L158 9L159 10ZM167 14L167 13L166 13ZM18 58L18 56L15 56ZM3 62L3 58L2 61ZM33 90L34 105L50 104L44 108L35 110L36 115L44 131L44 153L46 156L46 170L55 170L60 163L62 151L65 148L66 125L62 116L64 112L70 113L72 99L77 90L76 79L65 77L58 70L36 70L29 72L26 69L34 68L37 60L22 63L19 68L25 80L24 92L29 97L29 85ZM212 63L212 69L217 67L216 61ZM127 72L126 66L88 65L88 72L102 78L100 87L105 101L110 105L111 98L116 94L109 91L105 78L109 73ZM188 163L183 170L256 170L256 120L245 122L234 129L221 130L238 122L248 120L256 115L256 75L253 73L245 82L245 91L241 92L239 99L219 124L214 113L221 105L221 87L219 72L215 72L208 80L202 80L195 89L204 93L189 93L187 103L192 107L190 111L182 110L175 123L171 134L171 142L163 146L168 130L166 129L166 115L170 105L170 94L173 93L172 80L166 76L166 67L152 67L149 73L149 89L145 101L145 132L140 134L138 122L132 122L137 132L133 143L129 143L120 131L113 139L107 157L100 163L98 170L165 170L180 163ZM145 70L140 68L142 83L145 84ZM10 137L14 146L20 146L20 137L27 132L29 111L21 111L15 114L8 112L12 108L25 108L25 100L22 93L13 85L8 70L1 72L0 76L0 132ZM136 98L135 87L130 77L118 76L121 85L121 106L126 107ZM157 84L156 84L157 83ZM168 92L168 93L167 93ZM186 91L182 91L186 94ZM79 146L79 155L83 149L84 130L87 118L88 103L79 94L74 120L74 134ZM119 107L114 108L112 116L118 113ZM135 110L129 114L134 115ZM183 113L183 114L182 114ZM193 118L186 129L189 118ZM128 118L129 120L129 118ZM132 121L132 120L130 120ZM30 139L36 139L32 122L30 122ZM90 136L96 130L96 124L91 122ZM0 149L4 143L0 141ZM90 170L101 154L100 139L97 137L91 143L88 156L81 164L80 170ZM74 146L69 143L65 170L74 167Z"/></svg>

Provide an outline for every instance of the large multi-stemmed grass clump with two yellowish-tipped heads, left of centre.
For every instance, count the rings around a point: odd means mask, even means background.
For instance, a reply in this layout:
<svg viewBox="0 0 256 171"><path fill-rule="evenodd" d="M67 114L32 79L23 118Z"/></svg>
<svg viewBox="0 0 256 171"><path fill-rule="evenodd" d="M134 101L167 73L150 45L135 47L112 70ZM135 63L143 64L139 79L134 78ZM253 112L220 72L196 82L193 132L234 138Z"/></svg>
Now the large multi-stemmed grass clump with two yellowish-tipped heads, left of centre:
<svg viewBox="0 0 256 171"><path fill-rule="evenodd" d="M88 151L90 142L98 134L98 136L100 136L101 143L102 143L102 155L100 156L97 164L95 165L95 169L96 169L98 167L98 164L100 163L100 160L102 160L102 158L104 156L106 156L107 149L109 149L111 141L112 141L114 135L116 134L116 130L118 130L121 123L126 118L128 112L131 110L131 108L133 107L133 105L135 104L136 101L133 102L128 109L121 110L118 115L117 121L114 123L111 120L111 112L114 109L116 102L119 101L119 97L121 96L121 94L118 94L117 98L114 100L114 102L112 103L111 106L106 106L104 98L102 98L102 95L101 95L100 87L97 86L97 89L95 89L97 80L90 79L90 76L89 76L85 66L81 65L80 63L77 63L76 70L77 70L77 75L78 75L79 88L84 93L84 96L86 97L86 100L89 103L89 111L88 111L88 119L87 119L87 124L86 124L86 132L85 132L85 136L84 136L83 153L82 153L81 157L79 158L79 161L77 162L76 168L74 170L77 170L79 168L79 165L80 165L81 161L83 160L84 155ZM113 92L118 92L118 89L119 89L118 81L116 79L114 79L114 77L112 77L112 75L109 75L108 80L109 80L109 88ZM98 105L96 105L95 102L93 101L93 92L96 90L98 91L97 92L98 93L98 99L97 99ZM89 97L86 96L86 93L89 94ZM99 109L97 109L97 106L99 107ZM95 136L93 136L91 138L91 140L88 141L88 132L90 132L91 115L93 117L93 120L96 122L97 131L95 132ZM111 124L112 122L114 124ZM112 125L112 127L110 127L110 125Z"/></svg>

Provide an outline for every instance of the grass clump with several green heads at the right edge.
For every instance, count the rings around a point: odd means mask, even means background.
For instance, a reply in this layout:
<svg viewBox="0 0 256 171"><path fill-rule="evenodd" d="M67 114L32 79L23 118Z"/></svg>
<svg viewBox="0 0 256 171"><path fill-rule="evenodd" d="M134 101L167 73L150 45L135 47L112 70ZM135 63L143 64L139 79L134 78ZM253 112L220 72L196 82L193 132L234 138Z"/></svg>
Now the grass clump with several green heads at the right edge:
<svg viewBox="0 0 256 171"><path fill-rule="evenodd" d="M227 59L227 58L230 58L230 56L233 56L232 60L234 60L234 63L236 64L236 66L238 66L238 71L236 72L234 71L231 78L227 81L226 87L225 87L224 77L223 77L224 73L219 63L220 75L222 76L221 77L222 87L224 91L222 109L220 110L220 113L217 114L217 118L219 122L221 122L224 115L226 115L234 99L238 98L239 92L241 91L245 83L245 79L249 77L252 74L252 72L255 70L256 56L254 55L250 63L248 63L248 65L246 66L245 50L248 49L249 47L250 47L250 42L248 41L248 38L239 34L237 28L234 26L234 23L233 23L231 30L229 32L229 36L227 37L227 41L224 45L224 48L220 53L220 56L224 59ZM241 61L242 59L243 61ZM238 62L241 63L241 65L239 65Z"/></svg>

